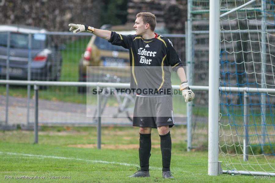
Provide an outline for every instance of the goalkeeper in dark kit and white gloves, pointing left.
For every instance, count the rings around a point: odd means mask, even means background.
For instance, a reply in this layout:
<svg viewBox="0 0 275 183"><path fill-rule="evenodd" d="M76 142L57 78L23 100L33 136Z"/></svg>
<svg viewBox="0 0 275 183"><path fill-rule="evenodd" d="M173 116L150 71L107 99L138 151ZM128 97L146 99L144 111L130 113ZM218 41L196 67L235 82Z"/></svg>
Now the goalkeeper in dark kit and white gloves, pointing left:
<svg viewBox="0 0 275 183"><path fill-rule="evenodd" d="M134 24L135 35L125 36L114 31L95 29L81 24L70 23L69 26L74 34L86 31L108 40L112 45L129 49L130 66L132 67L131 88L152 88L154 84L153 88L157 88L158 91L162 88L172 88L170 70L165 69L169 66L177 72L182 82L180 90L182 90L185 102L194 99L194 93L187 83L182 62L171 41L154 33L156 17L152 13L137 14ZM157 74L152 77L154 73ZM141 168L138 168L138 171L130 177L150 176L151 130L157 128L160 135L162 154L162 176L163 178L173 178L170 171L172 142L169 127L173 127L174 124L171 95L148 96L148 93L137 95L133 126L139 127L139 161Z"/></svg>

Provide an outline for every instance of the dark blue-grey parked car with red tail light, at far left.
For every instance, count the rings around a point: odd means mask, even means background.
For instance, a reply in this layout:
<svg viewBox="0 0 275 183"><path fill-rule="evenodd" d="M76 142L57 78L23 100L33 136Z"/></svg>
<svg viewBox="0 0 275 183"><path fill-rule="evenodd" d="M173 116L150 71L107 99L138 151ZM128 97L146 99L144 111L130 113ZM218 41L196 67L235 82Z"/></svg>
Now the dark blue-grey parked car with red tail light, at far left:
<svg viewBox="0 0 275 183"><path fill-rule="evenodd" d="M28 58L31 58L31 80L58 81L62 57L59 47L53 44L47 30L17 25L0 25L0 77L5 79L7 39L10 32L9 77L28 79ZM28 49L28 34L31 33L31 49Z"/></svg>

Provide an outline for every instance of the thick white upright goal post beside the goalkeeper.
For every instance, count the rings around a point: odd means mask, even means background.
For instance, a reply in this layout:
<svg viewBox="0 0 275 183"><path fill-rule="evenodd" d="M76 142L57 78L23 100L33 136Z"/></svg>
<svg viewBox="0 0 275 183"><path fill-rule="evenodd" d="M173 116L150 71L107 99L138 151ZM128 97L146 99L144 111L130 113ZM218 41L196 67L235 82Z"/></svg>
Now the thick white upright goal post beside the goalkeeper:
<svg viewBox="0 0 275 183"><path fill-rule="evenodd" d="M209 4L208 175L218 175L220 3Z"/></svg>

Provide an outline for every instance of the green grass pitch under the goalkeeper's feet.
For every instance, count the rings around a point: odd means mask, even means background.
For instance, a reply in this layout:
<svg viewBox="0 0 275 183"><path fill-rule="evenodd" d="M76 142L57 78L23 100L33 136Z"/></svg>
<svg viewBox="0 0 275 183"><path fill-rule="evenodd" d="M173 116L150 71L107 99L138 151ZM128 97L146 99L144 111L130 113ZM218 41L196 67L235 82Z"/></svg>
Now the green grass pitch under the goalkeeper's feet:
<svg viewBox="0 0 275 183"><path fill-rule="evenodd" d="M96 134L95 127L42 126L39 144L33 144L32 131L0 131L0 182L274 182L273 178L259 180L253 176L208 176L207 152L186 152L184 126L171 128L173 180L161 177L160 137L156 129L152 130L151 177L128 178L139 164L138 128L103 127L100 150L96 149ZM16 180L16 176L45 178ZM70 179L61 179L62 176Z"/></svg>

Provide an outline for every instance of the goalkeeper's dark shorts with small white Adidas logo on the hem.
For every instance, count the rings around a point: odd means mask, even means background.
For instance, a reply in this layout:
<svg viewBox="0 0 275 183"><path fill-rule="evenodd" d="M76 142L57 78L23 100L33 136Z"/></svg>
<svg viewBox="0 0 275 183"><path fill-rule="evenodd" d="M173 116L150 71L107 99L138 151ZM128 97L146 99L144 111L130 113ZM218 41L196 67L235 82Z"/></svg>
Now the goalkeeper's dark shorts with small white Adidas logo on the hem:
<svg viewBox="0 0 275 183"><path fill-rule="evenodd" d="M171 128L174 124L172 96L137 96L133 117L134 127Z"/></svg>

